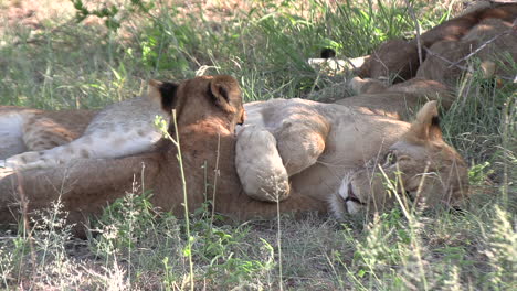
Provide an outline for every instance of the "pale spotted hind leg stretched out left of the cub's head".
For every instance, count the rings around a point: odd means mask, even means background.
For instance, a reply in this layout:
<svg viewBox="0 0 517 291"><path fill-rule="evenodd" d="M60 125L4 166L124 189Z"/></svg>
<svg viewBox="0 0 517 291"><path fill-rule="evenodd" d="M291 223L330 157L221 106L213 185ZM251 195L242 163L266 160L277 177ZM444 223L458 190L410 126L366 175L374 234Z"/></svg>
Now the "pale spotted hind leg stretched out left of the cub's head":
<svg viewBox="0 0 517 291"><path fill-rule="evenodd" d="M169 120L176 88L177 85L172 83L149 80L147 95L105 107L92 119L80 138L42 151L31 149L25 142L30 151L8 158L4 168L49 168L77 159L118 158L148 150L161 139L154 120L156 116ZM48 134L38 134L45 132L39 128L44 122L39 122L34 117L24 121L25 130L21 132L24 141L30 139L33 144L41 144L49 139Z"/></svg>

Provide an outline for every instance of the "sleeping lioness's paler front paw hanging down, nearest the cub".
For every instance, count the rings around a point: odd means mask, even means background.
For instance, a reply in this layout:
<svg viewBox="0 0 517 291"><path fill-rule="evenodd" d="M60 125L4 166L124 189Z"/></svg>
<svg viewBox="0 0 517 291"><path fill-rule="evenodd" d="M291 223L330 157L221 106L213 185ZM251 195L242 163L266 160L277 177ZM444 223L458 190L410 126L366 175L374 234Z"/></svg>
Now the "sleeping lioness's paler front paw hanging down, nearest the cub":
<svg viewBox="0 0 517 291"><path fill-rule="evenodd" d="M289 195L287 171L276 139L265 128L245 126L238 136L235 168L244 192L252 198L277 202Z"/></svg>

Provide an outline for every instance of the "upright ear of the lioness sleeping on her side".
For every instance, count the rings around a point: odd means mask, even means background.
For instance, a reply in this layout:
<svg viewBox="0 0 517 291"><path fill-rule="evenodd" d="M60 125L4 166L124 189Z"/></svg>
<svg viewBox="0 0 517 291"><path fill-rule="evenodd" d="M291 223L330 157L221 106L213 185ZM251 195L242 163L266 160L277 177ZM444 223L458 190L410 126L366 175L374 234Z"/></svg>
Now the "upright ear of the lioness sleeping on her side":
<svg viewBox="0 0 517 291"><path fill-rule="evenodd" d="M407 137L420 140L441 140L440 118L436 101L426 103L416 114Z"/></svg>

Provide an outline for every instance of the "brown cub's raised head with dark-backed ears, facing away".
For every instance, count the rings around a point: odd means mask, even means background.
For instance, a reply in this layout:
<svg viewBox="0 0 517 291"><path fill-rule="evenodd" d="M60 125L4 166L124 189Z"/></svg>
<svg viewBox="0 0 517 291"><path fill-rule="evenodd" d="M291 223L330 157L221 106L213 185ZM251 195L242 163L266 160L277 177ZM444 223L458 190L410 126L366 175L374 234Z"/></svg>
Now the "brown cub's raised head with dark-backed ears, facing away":
<svg viewBox="0 0 517 291"><path fill-rule="evenodd" d="M241 88L228 75L201 76L182 83L149 82L148 97L170 114L176 109L178 126L211 119L234 132L244 122Z"/></svg>

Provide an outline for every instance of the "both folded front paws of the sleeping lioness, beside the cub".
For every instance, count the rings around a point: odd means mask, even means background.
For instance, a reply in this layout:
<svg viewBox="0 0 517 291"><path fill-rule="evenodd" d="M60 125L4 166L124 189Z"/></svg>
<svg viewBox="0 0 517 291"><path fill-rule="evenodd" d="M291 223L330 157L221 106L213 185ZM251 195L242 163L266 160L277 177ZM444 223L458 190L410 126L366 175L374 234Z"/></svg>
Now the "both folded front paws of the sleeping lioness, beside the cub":
<svg viewBox="0 0 517 291"><path fill-rule="evenodd" d="M316 163L325 150L327 122L316 116L295 121L284 120L273 133L255 125L239 132L235 166L249 196L267 202L287 198L288 177Z"/></svg>

